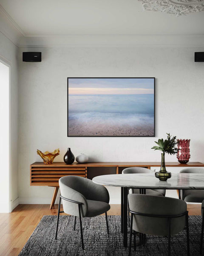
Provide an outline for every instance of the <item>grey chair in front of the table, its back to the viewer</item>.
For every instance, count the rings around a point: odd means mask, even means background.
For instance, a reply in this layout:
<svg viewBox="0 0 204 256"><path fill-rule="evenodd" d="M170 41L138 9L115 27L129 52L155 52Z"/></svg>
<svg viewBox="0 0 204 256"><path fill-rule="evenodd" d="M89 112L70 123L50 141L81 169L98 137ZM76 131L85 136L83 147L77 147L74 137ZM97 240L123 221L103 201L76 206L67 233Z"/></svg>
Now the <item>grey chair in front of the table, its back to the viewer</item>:
<svg viewBox="0 0 204 256"><path fill-rule="evenodd" d="M189 256L189 228L186 202L176 199L152 195L129 194L130 247L131 254L132 233L168 237L168 256L170 256L171 236L186 227L187 255ZM134 230L134 232L133 232ZM134 248L135 239L134 239Z"/></svg>

